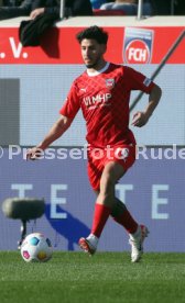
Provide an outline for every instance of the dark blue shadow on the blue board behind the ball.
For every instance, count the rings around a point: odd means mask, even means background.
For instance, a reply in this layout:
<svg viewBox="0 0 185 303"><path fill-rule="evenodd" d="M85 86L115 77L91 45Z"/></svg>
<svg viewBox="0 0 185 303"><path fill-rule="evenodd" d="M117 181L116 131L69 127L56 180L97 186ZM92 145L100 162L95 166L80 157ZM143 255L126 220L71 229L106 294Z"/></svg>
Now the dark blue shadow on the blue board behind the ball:
<svg viewBox="0 0 185 303"><path fill-rule="evenodd" d="M81 221L73 216L66 210L63 210L61 206L58 206L57 211L58 213L66 213L67 218L51 218L51 204L45 205L45 216L50 224L58 234L68 240L68 250L74 250L74 245L78 244L78 239L81 236L88 236L90 229Z"/></svg>

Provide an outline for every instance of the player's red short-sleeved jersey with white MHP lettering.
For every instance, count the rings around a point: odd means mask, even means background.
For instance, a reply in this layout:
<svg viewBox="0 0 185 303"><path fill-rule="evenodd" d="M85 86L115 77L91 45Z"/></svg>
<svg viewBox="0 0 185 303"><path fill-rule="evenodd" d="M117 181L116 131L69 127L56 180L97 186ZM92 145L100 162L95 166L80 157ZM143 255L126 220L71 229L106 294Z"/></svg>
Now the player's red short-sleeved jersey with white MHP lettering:
<svg viewBox="0 0 185 303"><path fill-rule="evenodd" d="M89 144L96 147L135 144L129 130L129 100L132 90L150 93L154 83L127 66L107 64L96 76L87 71L74 82L59 113L74 119L81 109Z"/></svg>

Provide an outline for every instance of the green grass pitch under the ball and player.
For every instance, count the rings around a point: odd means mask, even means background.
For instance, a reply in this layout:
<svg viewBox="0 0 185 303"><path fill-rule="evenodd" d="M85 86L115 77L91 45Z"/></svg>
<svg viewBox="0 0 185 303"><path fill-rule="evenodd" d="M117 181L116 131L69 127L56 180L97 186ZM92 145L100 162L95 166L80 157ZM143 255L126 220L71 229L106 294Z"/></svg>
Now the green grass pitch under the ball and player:
<svg viewBox="0 0 185 303"><path fill-rule="evenodd" d="M185 254L54 252L26 263L19 251L0 252L0 302L185 302Z"/></svg>

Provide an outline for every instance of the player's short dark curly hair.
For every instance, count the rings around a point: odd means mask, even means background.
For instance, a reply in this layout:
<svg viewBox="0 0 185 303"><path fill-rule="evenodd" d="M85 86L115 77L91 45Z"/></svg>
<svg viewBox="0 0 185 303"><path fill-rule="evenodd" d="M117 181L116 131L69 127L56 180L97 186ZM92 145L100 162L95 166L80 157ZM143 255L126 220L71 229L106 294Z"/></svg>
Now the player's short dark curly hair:
<svg viewBox="0 0 185 303"><path fill-rule="evenodd" d="M99 44L107 45L108 33L105 32L102 29L98 27L97 25L94 25L79 32L76 35L76 38L79 43L81 43L84 38L91 38L91 40L96 40Z"/></svg>

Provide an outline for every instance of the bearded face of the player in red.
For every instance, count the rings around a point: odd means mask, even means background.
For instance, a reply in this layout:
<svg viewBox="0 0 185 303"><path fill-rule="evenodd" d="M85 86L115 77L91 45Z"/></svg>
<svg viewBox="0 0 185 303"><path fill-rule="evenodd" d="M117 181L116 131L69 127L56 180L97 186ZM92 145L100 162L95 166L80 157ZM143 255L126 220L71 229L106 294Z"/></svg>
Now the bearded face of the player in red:
<svg viewBox="0 0 185 303"><path fill-rule="evenodd" d="M104 60L106 45L99 44L96 40L84 38L80 44L81 56L87 68L98 68Z"/></svg>

